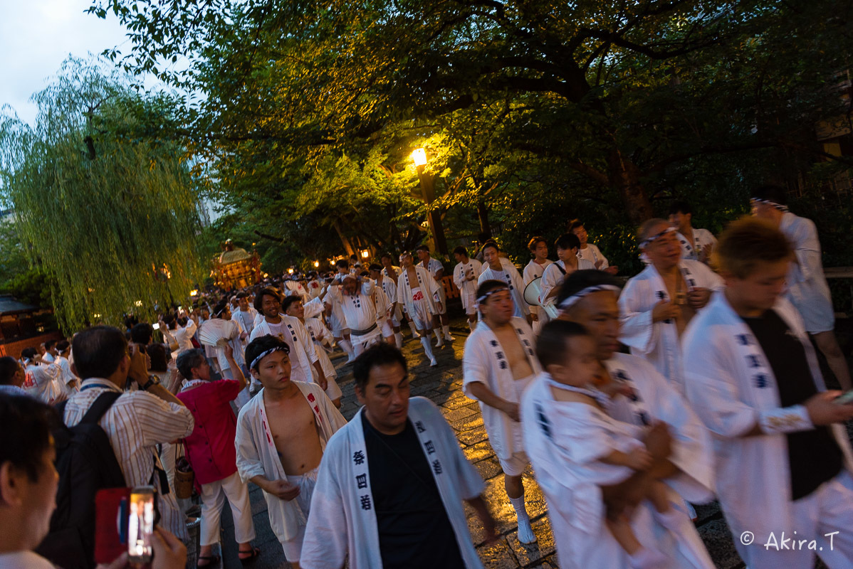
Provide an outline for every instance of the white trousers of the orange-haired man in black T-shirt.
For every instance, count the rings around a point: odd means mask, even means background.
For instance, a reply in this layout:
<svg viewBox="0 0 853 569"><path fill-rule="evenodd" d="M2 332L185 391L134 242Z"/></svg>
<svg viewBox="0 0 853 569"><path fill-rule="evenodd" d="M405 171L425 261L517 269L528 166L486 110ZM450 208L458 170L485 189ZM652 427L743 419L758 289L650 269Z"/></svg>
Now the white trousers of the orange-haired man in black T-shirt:
<svg viewBox="0 0 853 569"><path fill-rule="evenodd" d="M853 567L853 478L849 472L844 470L793 502L791 513L796 535L775 532L766 543L756 540L748 546L741 536L733 536L748 569L812 569L815 554L830 569Z"/></svg>

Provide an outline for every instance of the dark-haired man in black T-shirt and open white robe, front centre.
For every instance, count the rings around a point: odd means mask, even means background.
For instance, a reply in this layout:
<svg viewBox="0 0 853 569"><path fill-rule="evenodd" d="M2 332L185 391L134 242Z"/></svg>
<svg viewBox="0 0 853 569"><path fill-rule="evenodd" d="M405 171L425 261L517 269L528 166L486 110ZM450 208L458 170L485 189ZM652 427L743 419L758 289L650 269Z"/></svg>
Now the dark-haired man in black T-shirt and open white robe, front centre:
<svg viewBox="0 0 853 569"><path fill-rule="evenodd" d="M388 343L353 366L364 406L332 440L320 466L305 532L302 566L480 569L463 501L487 542L495 521L485 488L432 401L409 399L406 359Z"/></svg>

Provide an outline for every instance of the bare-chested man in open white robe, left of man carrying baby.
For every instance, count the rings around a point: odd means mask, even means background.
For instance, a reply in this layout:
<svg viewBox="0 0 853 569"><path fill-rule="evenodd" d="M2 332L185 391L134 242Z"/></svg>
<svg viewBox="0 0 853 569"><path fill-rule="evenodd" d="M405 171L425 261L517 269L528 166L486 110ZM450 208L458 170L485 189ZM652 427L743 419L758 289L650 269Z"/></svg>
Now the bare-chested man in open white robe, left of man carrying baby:
<svg viewBox="0 0 853 569"><path fill-rule="evenodd" d="M519 541L533 543L521 480L530 463L522 441L519 403L525 387L541 369L533 354L533 330L514 318L506 283L487 280L477 289L483 316L468 336L462 359L462 390L479 403L489 443L503 470L503 486L519 521Z"/></svg>

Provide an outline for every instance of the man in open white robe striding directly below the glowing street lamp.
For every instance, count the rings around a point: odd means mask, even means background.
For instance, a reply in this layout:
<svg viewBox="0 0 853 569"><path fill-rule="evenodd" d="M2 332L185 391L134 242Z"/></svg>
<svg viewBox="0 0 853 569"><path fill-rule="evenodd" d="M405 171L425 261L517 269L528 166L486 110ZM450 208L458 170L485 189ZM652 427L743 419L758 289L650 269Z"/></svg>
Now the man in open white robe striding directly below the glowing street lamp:
<svg viewBox="0 0 853 569"><path fill-rule="evenodd" d="M412 254L404 251L400 255L400 276L397 277L397 303L405 307L409 318L415 322L415 328L421 336L424 353L430 360L431 366L438 365L438 360L432 355L432 344L429 332L432 330L432 315L438 313L441 305L438 296L438 284L430 273L422 267L415 267ZM444 346L441 336L438 337L438 347Z"/></svg>

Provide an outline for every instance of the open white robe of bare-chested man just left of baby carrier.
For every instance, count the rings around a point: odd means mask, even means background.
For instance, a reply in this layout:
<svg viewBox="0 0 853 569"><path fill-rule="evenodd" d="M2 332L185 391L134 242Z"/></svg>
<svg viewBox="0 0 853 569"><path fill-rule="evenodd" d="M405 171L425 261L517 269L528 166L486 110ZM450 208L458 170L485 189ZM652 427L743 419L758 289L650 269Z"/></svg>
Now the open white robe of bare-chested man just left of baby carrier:
<svg viewBox="0 0 853 569"><path fill-rule="evenodd" d="M489 434L489 444L494 449L496 456L503 460L512 457L514 452L524 451L524 443L521 440L521 423L513 421L503 411L485 405L474 397L468 388L473 382L482 382L485 387L501 399L520 403L519 387L524 388L532 376L536 376L542 371L534 352L536 340L527 320L514 318L510 320L509 324L515 330L521 348L524 349L527 356L527 362L533 371L530 377L513 378L513 371L501 342L495 336L495 332L482 320L471 332L471 336L467 337L462 355L462 392L479 403L485 430ZM519 383L522 385L519 386Z"/></svg>

